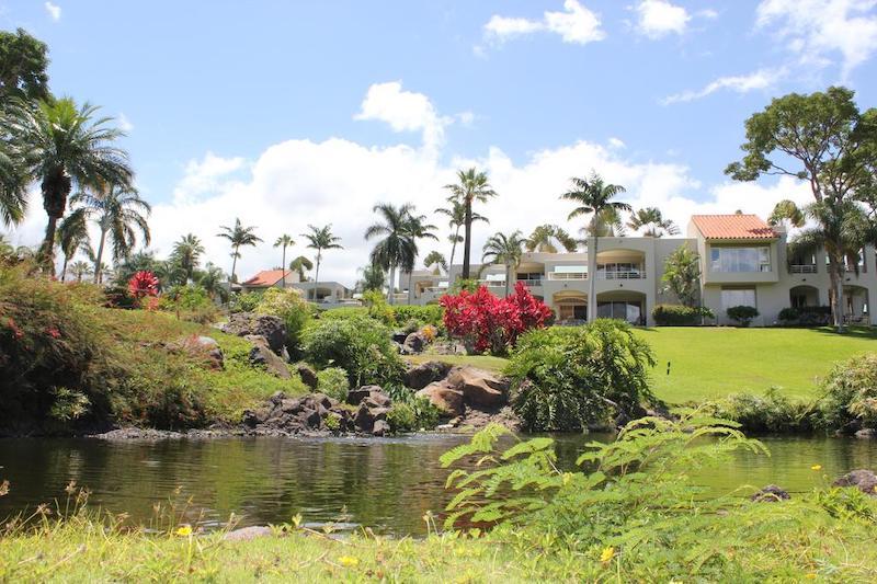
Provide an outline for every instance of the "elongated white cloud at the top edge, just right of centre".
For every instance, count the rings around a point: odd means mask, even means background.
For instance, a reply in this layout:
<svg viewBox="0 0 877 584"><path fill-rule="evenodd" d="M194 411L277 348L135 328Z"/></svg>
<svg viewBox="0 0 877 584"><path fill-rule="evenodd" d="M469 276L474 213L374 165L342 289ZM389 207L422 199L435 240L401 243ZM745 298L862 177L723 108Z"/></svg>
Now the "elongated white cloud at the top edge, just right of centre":
<svg viewBox="0 0 877 584"><path fill-rule="evenodd" d="M563 10L546 11L542 20L509 18L494 14L485 24L485 38L492 44L502 44L520 36L548 32L560 35L565 43L586 45L606 37L600 27L600 16L577 0L565 0ZM476 55L483 54L483 47L475 47Z"/></svg>

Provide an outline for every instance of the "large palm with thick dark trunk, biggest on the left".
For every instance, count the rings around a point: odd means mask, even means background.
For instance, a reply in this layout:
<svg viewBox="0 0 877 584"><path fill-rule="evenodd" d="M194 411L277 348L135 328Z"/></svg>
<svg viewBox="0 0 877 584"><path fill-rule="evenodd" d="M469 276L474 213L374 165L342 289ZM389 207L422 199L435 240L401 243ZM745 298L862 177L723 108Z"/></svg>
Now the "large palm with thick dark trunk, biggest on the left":
<svg viewBox="0 0 877 584"><path fill-rule="evenodd" d="M125 134L110 126L113 118L95 117L98 107L88 103L77 107L70 98L39 102L36 107L16 104L5 113L3 134L12 137L13 159L21 160L23 175L39 181L43 192L48 224L39 255L54 274L55 229L73 185L132 183L128 156L113 146Z"/></svg>

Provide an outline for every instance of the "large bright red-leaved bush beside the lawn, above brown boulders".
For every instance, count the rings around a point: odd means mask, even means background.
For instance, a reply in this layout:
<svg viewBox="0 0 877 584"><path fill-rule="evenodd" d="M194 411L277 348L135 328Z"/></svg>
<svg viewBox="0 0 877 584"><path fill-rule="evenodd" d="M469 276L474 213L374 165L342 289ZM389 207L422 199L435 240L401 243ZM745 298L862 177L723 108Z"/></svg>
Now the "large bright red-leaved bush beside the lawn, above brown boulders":
<svg viewBox="0 0 877 584"><path fill-rule="evenodd" d="M467 351L490 351L494 355L514 346L521 333L545 327L551 316L551 309L534 298L521 282L506 298L497 298L480 286L475 293L463 290L444 296L441 305L451 336L463 340Z"/></svg>

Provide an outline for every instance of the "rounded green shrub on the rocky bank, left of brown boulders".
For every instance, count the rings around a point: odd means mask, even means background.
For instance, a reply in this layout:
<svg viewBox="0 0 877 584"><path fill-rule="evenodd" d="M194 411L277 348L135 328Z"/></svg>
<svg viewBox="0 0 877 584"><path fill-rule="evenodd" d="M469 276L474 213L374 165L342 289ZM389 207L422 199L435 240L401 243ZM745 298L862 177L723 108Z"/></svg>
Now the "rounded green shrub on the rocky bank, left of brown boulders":
<svg viewBox="0 0 877 584"><path fill-rule="evenodd" d="M351 386L392 386L405 369L390 331L375 319L314 320L303 334L303 353L318 367L342 367Z"/></svg>

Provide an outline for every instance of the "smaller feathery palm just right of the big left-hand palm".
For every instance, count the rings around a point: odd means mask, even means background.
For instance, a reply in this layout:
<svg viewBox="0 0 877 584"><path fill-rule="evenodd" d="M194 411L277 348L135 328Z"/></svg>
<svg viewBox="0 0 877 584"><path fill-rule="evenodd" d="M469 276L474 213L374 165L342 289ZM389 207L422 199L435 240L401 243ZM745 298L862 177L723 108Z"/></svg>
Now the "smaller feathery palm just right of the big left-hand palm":
<svg viewBox="0 0 877 584"><path fill-rule="evenodd" d="M82 191L70 198L72 205L81 205L84 214L94 217L101 236L94 255L94 282L103 282L102 260L106 237L113 244L113 260L122 261L137 244L137 231L149 245L150 233L147 217L152 210L149 203L140 198L137 191L127 186L100 184L93 186L95 194Z"/></svg>

